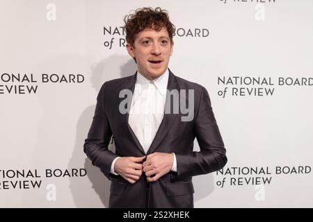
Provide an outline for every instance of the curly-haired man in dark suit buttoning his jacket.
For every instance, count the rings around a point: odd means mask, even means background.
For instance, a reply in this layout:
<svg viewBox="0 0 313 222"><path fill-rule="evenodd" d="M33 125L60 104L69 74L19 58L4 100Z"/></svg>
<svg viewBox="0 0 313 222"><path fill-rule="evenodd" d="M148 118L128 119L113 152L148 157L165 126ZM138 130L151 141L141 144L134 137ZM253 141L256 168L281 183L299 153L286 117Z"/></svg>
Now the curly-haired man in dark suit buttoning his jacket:
<svg viewBox="0 0 313 222"><path fill-rule="evenodd" d="M109 207L193 207L192 176L227 162L209 94L168 69L175 26L165 10L136 10L125 31L138 71L102 85L84 152L111 180ZM192 118L177 107L184 102Z"/></svg>

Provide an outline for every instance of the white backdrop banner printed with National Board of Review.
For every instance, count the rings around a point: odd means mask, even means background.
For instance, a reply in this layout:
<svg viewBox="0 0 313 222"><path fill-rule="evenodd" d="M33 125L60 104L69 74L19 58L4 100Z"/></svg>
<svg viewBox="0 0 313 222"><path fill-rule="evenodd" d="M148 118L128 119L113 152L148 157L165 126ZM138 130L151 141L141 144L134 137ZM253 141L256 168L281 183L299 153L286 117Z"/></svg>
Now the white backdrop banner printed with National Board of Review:
<svg viewBox="0 0 313 222"><path fill-rule="evenodd" d="M145 6L168 10L169 67L207 88L227 149L195 207L313 207L310 0L1 0L0 207L108 207L83 142L101 85L136 71L123 18Z"/></svg>

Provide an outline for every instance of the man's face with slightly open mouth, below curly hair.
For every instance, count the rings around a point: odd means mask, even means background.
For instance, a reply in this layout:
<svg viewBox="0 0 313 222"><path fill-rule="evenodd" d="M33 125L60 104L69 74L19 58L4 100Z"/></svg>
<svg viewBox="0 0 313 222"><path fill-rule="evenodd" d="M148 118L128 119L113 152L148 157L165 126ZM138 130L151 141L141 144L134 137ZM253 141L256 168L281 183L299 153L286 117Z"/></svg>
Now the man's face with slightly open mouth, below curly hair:
<svg viewBox="0 0 313 222"><path fill-rule="evenodd" d="M138 71L145 78L153 80L163 74L168 68L173 45L166 28L155 31L145 28L136 35L134 46L127 44L129 55L136 58Z"/></svg>

